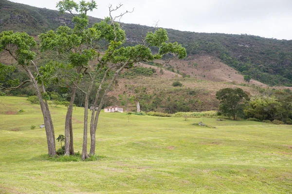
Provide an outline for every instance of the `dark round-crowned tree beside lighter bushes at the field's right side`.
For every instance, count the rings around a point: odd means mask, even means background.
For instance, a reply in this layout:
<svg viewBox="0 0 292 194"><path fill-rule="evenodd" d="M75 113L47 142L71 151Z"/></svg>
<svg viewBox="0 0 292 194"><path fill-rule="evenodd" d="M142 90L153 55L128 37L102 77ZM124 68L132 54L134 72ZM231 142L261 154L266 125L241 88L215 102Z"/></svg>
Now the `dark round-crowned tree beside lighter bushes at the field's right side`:
<svg viewBox="0 0 292 194"><path fill-rule="evenodd" d="M232 116L234 120L237 116L243 115L243 102L249 100L248 95L241 88L221 89L216 93L216 98L220 100L220 112Z"/></svg>

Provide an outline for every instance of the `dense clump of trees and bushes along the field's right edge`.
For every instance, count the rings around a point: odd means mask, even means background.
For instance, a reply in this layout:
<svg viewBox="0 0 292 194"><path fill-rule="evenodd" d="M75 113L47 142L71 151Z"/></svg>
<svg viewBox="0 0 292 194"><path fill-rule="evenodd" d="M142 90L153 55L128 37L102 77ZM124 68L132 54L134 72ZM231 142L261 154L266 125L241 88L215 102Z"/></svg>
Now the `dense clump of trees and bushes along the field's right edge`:
<svg viewBox="0 0 292 194"><path fill-rule="evenodd" d="M254 121L292 125L292 92L264 91L262 96L250 99L241 88L224 88L216 93L220 100L219 115Z"/></svg>

